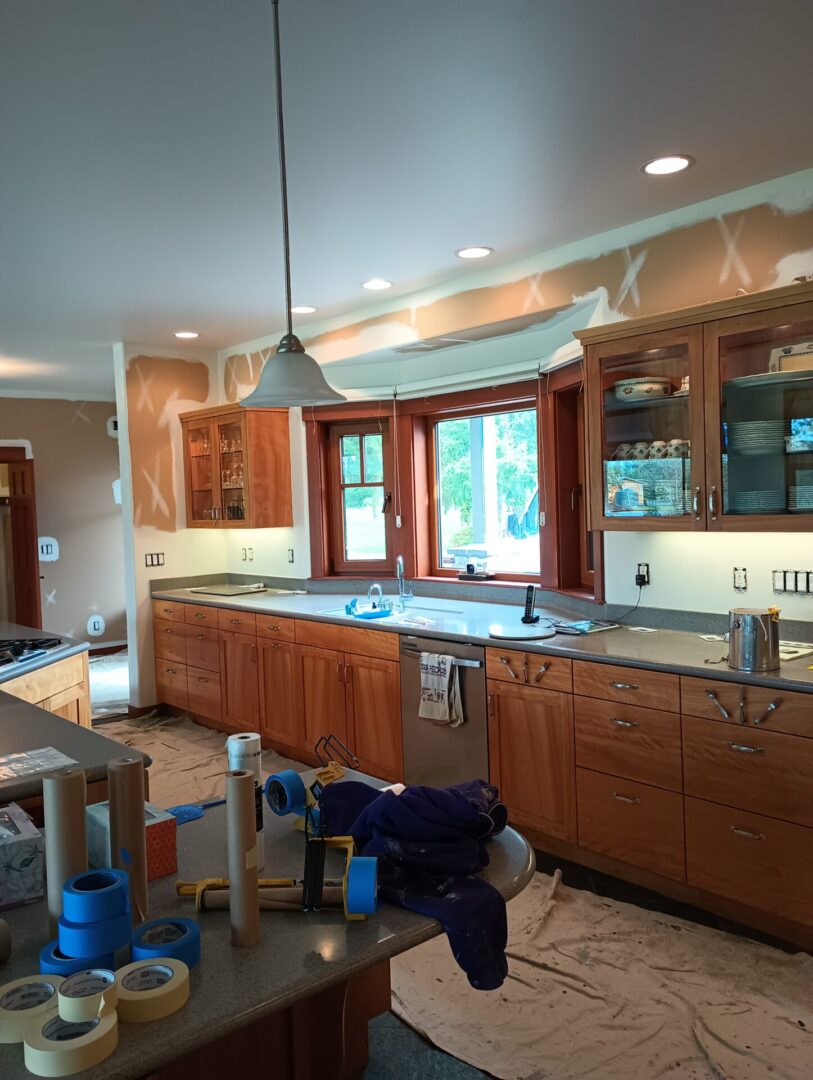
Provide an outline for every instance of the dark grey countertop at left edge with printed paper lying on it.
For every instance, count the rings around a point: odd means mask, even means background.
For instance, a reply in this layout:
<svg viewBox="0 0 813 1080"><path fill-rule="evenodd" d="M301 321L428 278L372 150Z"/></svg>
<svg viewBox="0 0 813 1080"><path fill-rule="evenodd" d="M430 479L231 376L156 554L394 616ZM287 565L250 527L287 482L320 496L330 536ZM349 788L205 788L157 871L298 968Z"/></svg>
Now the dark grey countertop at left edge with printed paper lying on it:
<svg viewBox="0 0 813 1080"><path fill-rule="evenodd" d="M107 777L107 762L111 757L140 753L0 690L0 757L44 746L53 746L81 765L89 783ZM146 754L141 756L146 766L152 764L152 759ZM0 780L0 806L14 799L39 795L42 791L42 777L43 773L39 772L30 777Z"/></svg>

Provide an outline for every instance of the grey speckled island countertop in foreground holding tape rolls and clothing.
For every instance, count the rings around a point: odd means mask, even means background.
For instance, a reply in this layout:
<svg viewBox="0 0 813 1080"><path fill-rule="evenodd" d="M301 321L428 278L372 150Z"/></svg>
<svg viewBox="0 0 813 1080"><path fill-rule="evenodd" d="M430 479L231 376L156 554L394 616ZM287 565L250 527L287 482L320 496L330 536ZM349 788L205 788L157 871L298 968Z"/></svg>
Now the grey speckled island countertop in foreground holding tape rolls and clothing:
<svg viewBox="0 0 813 1080"><path fill-rule="evenodd" d="M265 843L265 876L301 877L303 839L290 819L276 818L266 809ZM488 850L490 863L483 877L510 900L530 881L533 853L511 828ZM328 856L338 859L338 853L328 852ZM338 865L330 863L328 873ZM228 876L225 807L214 807L205 818L178 827L177 877L189 881L212 876ZM162 915L194 918L194 901L176 896L175 876L150 885L149 918ZM0 969L0 982L5 983L38 971L37 957L49 934L44 903L5 912L3 917L13 941L11 960ZM228 912L203 913L200 927L202 959L192 971L189 1003L153 1024L121 1024L119 1049L83 1077L146 1076L184 1053L441 933L434 919L390 904L381 904L378 914L363 922L347 922L339 912L262 913L260 944L245 949L231 947ZM449 966L453 963L449 953ZM29 1076L19 1045L0 1045L0 1076L3 1080Z"/></svg>

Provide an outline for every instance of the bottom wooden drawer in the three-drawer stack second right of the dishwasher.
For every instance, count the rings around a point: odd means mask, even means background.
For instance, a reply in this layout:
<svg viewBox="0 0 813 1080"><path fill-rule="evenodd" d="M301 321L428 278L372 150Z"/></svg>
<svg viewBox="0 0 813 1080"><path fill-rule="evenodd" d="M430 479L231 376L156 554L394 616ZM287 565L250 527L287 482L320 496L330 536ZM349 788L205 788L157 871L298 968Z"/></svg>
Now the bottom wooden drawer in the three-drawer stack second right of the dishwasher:
<svg viewBox="0 0 813 1080"><path fill-rule="evenodd" d="M681 795L587 769L575 775L581 847L686 879Z"/></svg>

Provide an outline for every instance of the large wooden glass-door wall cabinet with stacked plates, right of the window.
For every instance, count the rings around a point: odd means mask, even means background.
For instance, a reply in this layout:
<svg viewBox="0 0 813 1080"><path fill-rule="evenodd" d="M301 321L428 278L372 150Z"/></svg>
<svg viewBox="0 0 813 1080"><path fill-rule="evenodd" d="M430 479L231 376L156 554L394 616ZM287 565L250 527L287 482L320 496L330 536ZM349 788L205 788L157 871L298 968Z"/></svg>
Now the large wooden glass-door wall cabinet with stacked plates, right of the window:
<svg viewBox="0 0 813 1080"><path fill-rule="evenodd" d="M593 528L813 529L813 285L577 337Z"/></svg>

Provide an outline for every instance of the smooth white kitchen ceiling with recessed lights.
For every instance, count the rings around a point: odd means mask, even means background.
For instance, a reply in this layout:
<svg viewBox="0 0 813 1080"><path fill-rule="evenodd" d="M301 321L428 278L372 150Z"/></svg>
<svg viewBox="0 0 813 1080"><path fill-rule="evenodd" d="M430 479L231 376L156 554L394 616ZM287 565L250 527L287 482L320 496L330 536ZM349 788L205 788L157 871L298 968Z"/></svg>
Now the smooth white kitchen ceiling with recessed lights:
<svg viewBox="0 0 813 1080"><path fill-rule="evenodd" d="M813 164L809 0L282 0L311 321ZM0 392L283 325L268 0L0 0ZM665 178L642 162L696 164ZM485 262L455 252L494 248ZM307 319L298 325L307 326Z"/></svg>

